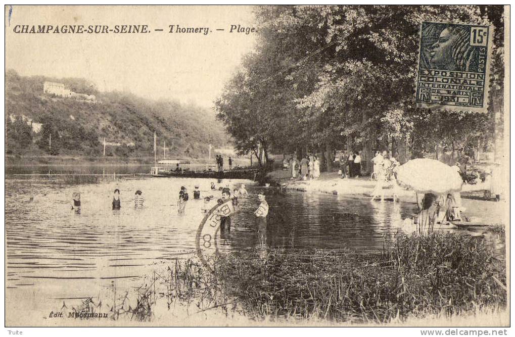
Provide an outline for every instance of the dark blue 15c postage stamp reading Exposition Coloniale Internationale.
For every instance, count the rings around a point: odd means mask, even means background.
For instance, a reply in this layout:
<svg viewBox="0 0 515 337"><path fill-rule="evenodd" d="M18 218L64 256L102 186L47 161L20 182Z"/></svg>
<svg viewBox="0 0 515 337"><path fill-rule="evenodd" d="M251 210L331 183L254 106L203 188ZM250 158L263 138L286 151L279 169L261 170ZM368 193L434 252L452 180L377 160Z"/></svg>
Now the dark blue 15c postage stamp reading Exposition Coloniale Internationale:
<svg viewBox="0 0 515 337"><path fill-rule="evenodd" d="M423 22L420 31L417 104L486 112L492 28Z"/></svg>

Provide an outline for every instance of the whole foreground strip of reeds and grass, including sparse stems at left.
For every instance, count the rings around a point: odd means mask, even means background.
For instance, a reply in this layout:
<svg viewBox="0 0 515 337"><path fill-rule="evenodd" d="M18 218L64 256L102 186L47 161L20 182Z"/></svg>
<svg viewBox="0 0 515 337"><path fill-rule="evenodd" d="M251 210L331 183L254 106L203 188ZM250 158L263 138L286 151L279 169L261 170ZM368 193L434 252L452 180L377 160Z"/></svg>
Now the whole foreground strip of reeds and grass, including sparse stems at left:
<svg viewBox="0 0 515 337"><path fill-rule="evenodd" d="M435 233L387 242L375 254L250 249L217 257L214 272L176 262L123 295L111 318L159 324L182 308L226 323L452 325L505 311L506 264L483 240Z"/></svg>

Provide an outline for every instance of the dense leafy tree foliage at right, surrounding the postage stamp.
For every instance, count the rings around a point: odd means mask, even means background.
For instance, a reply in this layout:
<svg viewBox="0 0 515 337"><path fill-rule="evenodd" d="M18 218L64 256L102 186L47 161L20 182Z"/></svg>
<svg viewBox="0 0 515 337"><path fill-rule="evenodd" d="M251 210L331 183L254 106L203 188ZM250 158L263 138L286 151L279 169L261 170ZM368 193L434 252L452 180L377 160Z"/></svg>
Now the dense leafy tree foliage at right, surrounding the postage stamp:
<svg viewBox="0 0 515 337"><path fill-rule="evenodd" d="M259 40L217 100L239 151L488 147L503 107L502 6L261 6ZM489 114L414 104L423 21L494 26ZM497 120L497 122L500 122ZM368 157L368 158L367 158ZM331 163L331 160L328 160Z"/></svg>

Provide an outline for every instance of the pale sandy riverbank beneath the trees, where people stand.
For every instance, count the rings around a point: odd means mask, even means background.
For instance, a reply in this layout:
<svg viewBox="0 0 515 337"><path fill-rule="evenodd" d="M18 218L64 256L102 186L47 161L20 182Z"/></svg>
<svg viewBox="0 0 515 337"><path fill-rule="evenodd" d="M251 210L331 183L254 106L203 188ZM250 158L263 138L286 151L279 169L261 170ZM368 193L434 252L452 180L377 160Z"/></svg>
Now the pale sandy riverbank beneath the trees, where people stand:
<svg viewBox="0 0 515 337"><path fill-rule="evenodd" d="M334 194L352 198L371 198L375 187L375 181L370 177L341 179L337 172L323 172L316 180L302 181L290 180L287 170L274 170L268 174L271 181L285 186L286 190L295 190L311 193ZM508 200L502 196L501 201L493 198L486 200L483 192L487 189L484 183L475 185L463 185L461 191L461 204L465 207L464 216L470 216L481 221L485 225L504 224L509 214ZM400 202L416 204L416 194L411 190L399 189L397 196ZM391 201L391 189L385 189L385 198ZM421 196L419 196L420 198ZM375 202L380 202L376 200Z"/></svg>

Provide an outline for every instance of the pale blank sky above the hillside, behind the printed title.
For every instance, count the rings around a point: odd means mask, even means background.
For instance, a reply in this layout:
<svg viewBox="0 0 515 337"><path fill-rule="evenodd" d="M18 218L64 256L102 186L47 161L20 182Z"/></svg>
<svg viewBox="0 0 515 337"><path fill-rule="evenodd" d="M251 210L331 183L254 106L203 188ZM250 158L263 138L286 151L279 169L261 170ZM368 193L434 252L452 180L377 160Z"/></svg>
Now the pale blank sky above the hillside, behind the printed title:
<svg viewBox="0 0 515 337"><path fill-rule="evenodd" d="M229 32L231 25L255 27L250 6L12 6L10 20L6 6L5 19L6 69L21 76L80 77L100 91L206 108L256 40L255 33ZM26 34L15 33L16 25L148 25L150 32ZM211 31L177 33L176 25Z"/></svg>

